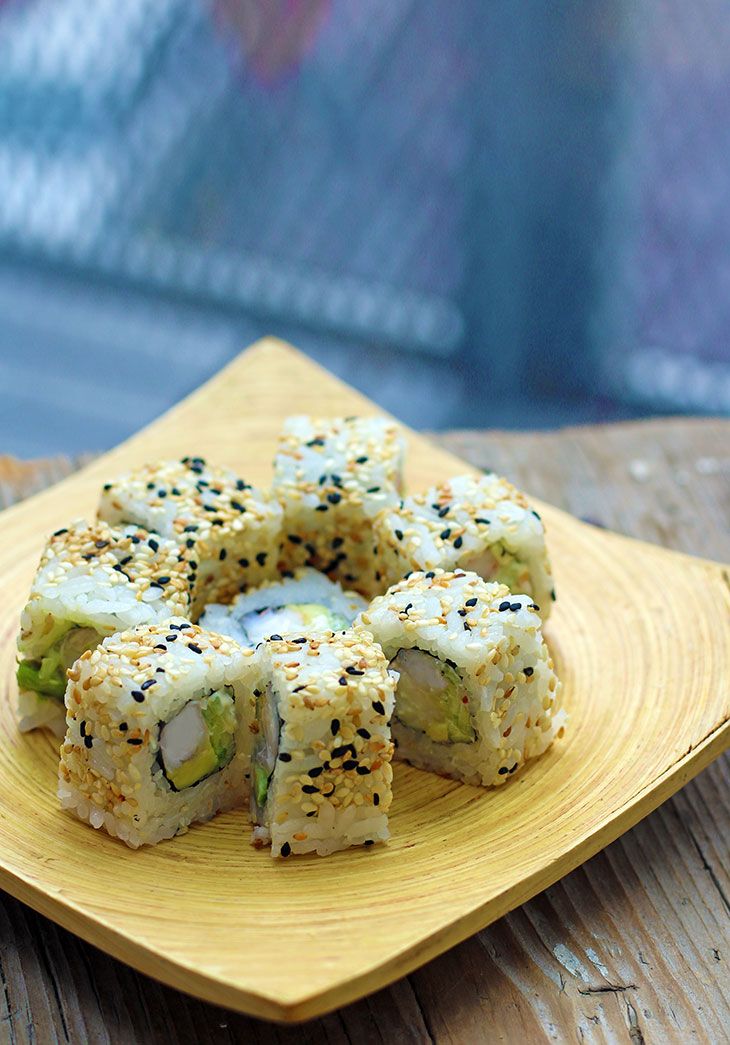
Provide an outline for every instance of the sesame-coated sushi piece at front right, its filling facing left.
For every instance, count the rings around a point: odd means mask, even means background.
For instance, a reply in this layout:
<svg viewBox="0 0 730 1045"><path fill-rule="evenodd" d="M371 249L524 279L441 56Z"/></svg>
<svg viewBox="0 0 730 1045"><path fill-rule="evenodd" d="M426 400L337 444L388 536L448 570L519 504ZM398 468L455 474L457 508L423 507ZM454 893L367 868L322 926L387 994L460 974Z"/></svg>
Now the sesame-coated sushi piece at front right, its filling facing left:
<svg viewBox="0 0 730 1045"><path fill-rule="evenodd" d="M467 784L503 784L562 736L560 682L528 596L476 574L413 574L356 622L398 673L400 759Z"/></svg>

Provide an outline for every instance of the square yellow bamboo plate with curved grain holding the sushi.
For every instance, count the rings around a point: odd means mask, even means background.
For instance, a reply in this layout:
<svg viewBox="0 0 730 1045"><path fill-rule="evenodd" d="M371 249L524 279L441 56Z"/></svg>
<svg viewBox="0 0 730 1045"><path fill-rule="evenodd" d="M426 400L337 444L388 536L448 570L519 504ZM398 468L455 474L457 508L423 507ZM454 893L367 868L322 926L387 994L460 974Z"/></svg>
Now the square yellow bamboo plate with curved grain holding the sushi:
<svg viewBox="0 0 730 1045"><path fill-rule="evenodd" d="M15 637L45 536L129 465L202 454L267 483L295 412L372 403L274 340L83 472L0 515L0 885L145 973L256 1016L360 997L535 896L730 741L730 583L711 562L542 506L566 737L494 791L399 765L386 846L273 861L243 812L132 852L61 812L56 743L15 721ZM467 470L409 433L411 489Z"/></svg>

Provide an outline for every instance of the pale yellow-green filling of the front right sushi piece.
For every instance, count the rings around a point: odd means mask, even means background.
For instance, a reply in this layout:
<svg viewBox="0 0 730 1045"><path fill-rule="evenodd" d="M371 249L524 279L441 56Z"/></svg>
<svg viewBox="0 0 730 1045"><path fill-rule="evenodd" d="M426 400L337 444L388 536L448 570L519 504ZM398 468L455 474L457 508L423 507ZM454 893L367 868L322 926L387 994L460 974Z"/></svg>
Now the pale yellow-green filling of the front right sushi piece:
<svg viewBox="0 0 730 1045"><path fill-rule="evenodd" d="M399 674L396 718L437 744L470 744L476 740L469 695L450 665L418 649L399 650L391 660Z"/></svg>

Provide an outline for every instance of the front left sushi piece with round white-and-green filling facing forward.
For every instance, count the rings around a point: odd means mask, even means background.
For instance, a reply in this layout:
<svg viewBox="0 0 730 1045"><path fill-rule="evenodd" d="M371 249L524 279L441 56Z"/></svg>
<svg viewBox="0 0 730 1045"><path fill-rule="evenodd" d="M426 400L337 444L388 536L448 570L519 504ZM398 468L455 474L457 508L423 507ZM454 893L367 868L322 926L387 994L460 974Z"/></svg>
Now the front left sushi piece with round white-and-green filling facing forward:
<svg viewBox="0 0 730 1045"><path fill-rule="evenodd" d="M133 628L69 672L58 798L133 849L249 797L259 658L182 618Z"/></svg>

